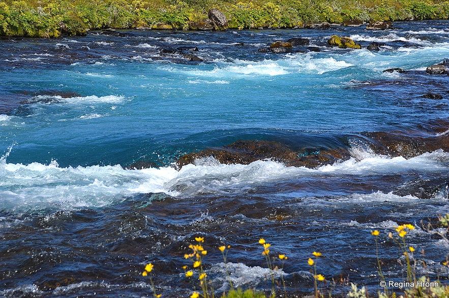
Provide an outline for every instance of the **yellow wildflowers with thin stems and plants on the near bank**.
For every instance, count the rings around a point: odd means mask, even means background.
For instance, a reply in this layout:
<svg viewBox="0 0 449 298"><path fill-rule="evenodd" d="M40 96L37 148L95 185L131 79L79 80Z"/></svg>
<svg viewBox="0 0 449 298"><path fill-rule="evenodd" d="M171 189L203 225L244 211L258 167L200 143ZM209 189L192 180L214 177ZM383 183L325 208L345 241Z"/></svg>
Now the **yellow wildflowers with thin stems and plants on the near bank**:
<svg viewBox="0 0 449 298"><path fill-rule="evenodd" d="M423 222L422 222L423 223ZM379 277L379 290L377 295L370 295L365 287L357 288L356 284L351 283L346 293L338 293L339 297L347 298L369 298L370 296L377 296L378 298L447 298L449 297L449 285L441 284L438 280L431 280L428 276L419 277L417 267L422 266L427 271L427 264L424 260L419 259L419 248L409 246L407 243L407 235L415 227L412 224L401 224L395 228L395 232L388 233L387 237L398 245L399 259L398 263L402 264L405 271L405 276L402 281L397 282L393 280L393 277L389 277L382 271L382 257L379 255L379 236L378 230L372 230L371 236L375 245L376 260L377 260L377 275ZM437 226L434 227L430 222L427 226L423 224L423 229L427 230L433 235L437 235L447 244L449 244L449 213L444 216L438 217ZM381 236L384 238L383 236ZM189 283L193 287L193 292L190 298L215 298L219 295L214 291L213 283L209 280L204 266L204 260L208 254L207 247L204 244L204 237L195 237L196 244L190 244L190 253L186 253L184 258L187 262L182 268L184 270L185 277L189 280ZM228 271L227 256L230 245L219 246L218 250L221 252L224 261L224 274L226 275L226 281L229 283L229 291L224 292L221 298L276 298L287 297L287 288L284 280L284 264L288 260L285 254L275 254L272 249L272 244L267 243L265 239L260 238L259 244L262 248L262 256L265 258L268 274L266 279L271 280L272 289L268 296L264 292L256 291L254 289L246 289L245 291L238 287L235 289L235 285L232 283ZM213 249L212 247L208 247ZM422 256L425 255L424 249L421 250ZM328 280L324 275L318 274L317 263L321 262L321 252L314 251L311 253L307 264L310 267L311 277L314 281L314 296L315 298L332 298L332 286L335 286L334 280ZM449 254L446 255L444 261L440 261L441 271L439 276L446 278L449 276ZM158 290L153 283L152 271L154 265L147 263L142 276L149 279L153 290L153 297L160 298L162 294L158 294ZM280 276L280 278L279 278ZM395 276L395 278L397 278ZM280 280L279 280L280 279ZM331 286L329 286L329 283ZM401 293L396 293L396 290L400 290ZM309 295L308 297L311 297Z"/></svg>

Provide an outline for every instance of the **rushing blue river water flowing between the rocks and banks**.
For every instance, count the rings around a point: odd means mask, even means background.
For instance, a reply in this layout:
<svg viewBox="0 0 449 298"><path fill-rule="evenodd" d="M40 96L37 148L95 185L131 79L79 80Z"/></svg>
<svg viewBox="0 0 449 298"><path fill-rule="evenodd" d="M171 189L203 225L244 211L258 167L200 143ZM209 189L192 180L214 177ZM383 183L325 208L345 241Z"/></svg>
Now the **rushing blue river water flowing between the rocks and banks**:
<svg viewBox="0 0 449 298"><path fill-rule="evenodd" d="M417 274L446 281L449 248L420 221L448 212L449 153L442 145L408 159L375 154L361 135L449 129L449 77L425 72L449 58L449 22L395 27L1 40L0 296L151 296L141 273L152 262L157 292L186 297L197 277L184 277L191 262L183 256L198 236L218 292L228 288L224 244L234 285L271 289L259 238L288 256L276 274L290 295L313 291L313 251L322 252L317 271L327 285L337 281L335 292L348 281L376 292L370 231L380 231L387 280L403 281L404 256L387 237L398 238L402 223L416 226L406 240L426 262ZM384 45L330 48L334 34ZM259 51L298 36L319 52ZM203 61L171 50L179 47L197 47L185 52ZM391 68L406 72L382 73ZM443 98L422 97L429 92ZM237 140L345 147L351 158L315 169L211 157L173 166L185 153ZM126 169L136 161L154 167Z"/></svg>

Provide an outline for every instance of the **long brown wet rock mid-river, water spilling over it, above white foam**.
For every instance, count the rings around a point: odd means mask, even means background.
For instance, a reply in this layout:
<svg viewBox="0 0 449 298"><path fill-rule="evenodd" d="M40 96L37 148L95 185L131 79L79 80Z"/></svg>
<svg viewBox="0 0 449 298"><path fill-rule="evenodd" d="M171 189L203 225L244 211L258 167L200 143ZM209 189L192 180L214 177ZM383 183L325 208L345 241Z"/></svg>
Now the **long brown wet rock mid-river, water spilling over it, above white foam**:
<svg viewBox="0 0 449 298"><path fill-rule="evenodd" d="M331 164L340 159L348 159L347 149L317 150L312 154L295 152L288 146L274 141L236 141L230 145L208 148L200 152L185 154L176 161L177 168L194 163L195 159L213 156L224 164L249 164L256 160L273 159L288 166L315 168Z"/></svg>

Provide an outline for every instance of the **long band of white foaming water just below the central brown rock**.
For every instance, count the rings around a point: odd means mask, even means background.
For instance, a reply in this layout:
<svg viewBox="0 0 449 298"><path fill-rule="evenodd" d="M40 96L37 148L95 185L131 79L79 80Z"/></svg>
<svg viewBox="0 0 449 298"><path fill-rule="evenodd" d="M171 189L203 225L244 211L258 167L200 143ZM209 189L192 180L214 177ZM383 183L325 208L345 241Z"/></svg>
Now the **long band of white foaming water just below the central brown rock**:
<svg viewBox="0 0 449 298"><path fill-rule="evenodd" d="M176 171L172 167L125 170L120 165L61 168L56 161L49 164L13 164L6 162L7 155L0 159L0 196L3 198L0 206L3 209L103 207L138 193L164 192L186 197L200 193L241 192L303 178L438 172L447 170L449 163L449 153L437 150L411 159L367 155L357 160L352 157L318 169L286 167L271 160L257 160L247 165L221 164L215 158L207 157ZM367 198L361 200L366 201ZM392 200L397 200L397 197Z"/></svg>

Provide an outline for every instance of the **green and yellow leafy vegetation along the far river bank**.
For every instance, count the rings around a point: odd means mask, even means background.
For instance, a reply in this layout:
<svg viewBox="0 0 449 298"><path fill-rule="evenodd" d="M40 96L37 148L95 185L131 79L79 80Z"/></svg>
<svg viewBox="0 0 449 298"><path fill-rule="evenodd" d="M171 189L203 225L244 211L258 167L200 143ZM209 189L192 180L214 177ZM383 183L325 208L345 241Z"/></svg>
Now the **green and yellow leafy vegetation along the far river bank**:
<svg viewBox="0 0 449 298"><path fill-rule="evenodd" d="M212 8L226 15L232 29L449 18L449 1L442 0L1 0L0 36L52 38L104 28L192 29Z"/></svg>

